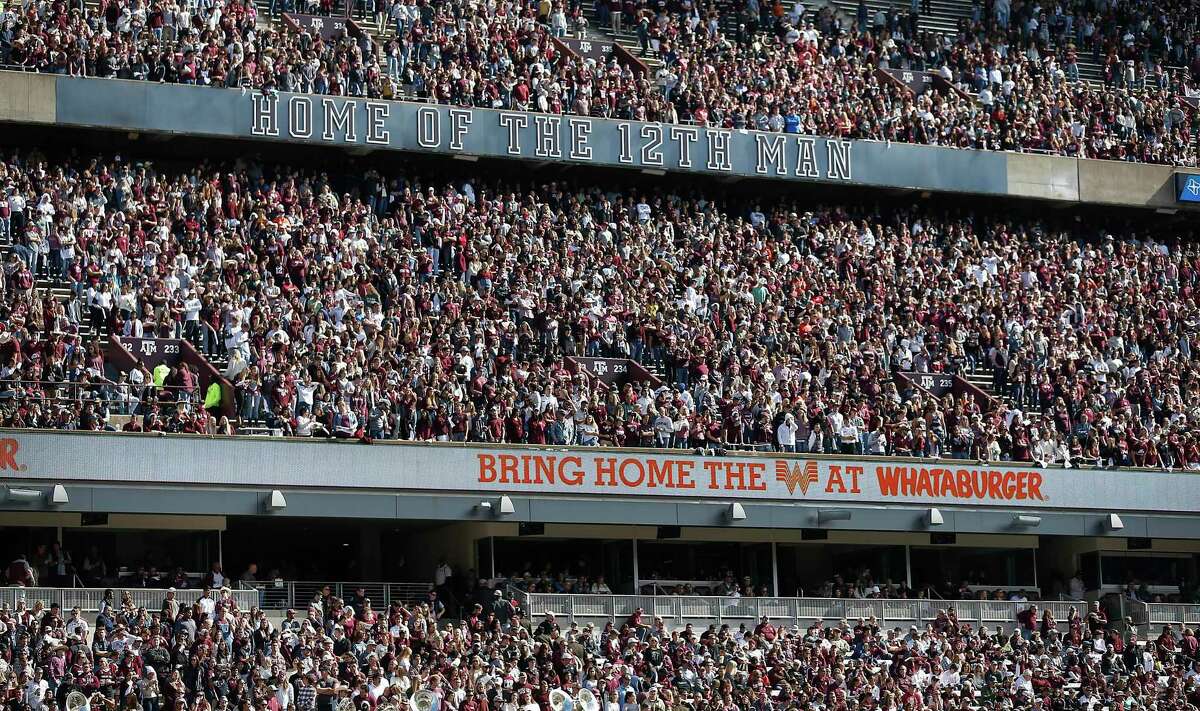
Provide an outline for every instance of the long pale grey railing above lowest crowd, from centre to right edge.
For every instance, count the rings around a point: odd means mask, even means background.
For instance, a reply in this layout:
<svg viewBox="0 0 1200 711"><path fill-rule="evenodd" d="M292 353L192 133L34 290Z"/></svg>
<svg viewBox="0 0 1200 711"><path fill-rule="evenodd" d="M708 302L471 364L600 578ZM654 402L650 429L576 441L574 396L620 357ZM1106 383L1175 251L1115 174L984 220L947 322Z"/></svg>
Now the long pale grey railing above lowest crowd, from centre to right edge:
<svg viewBox="0 0 1200 711"><path fill-rule="evenodd" d="M510 591L511 592L511 591ZM1087 614L1090 603L1060 601L938 601L938 599L853 599L853 598L810 598L810 597L668 597L648 595L552 595L521 593L515 596L523 611L532 621L546 613L563 617L569 622L613 622L620 625L638 608L644 611L646 621L661 617L671 627L682 627L691 622L697 626L754 623L763 615L776 623L804 625L815 621L840 620L854 621L859 617L874 616L880 625L923 626L932 622L938 614L954 610L959 622L982 625L1012 626L1016 623L1018 613L1028 609L1031 604L1042 610L1049 609L1064 629L1070 608L1080 615ZM1144 625L1183 625L1200 623L1200 605L1134 603L1123 604L1123 614Z"/></svg>

